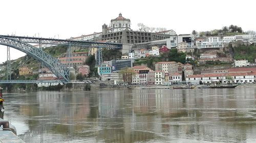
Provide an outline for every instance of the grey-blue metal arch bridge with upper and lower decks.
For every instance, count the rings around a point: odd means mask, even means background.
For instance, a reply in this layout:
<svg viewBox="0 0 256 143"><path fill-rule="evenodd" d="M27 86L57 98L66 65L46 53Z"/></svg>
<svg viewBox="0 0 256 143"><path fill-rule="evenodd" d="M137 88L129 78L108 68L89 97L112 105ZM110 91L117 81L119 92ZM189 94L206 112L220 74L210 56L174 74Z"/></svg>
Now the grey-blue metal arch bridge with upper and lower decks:
<svg viewBox="0 0 256 143"><path fill-rule="evenodd" d="M55 74L59 79L58 81L54 80L54 82L69 82L69 69L65 65L60 63L56 58L53 58L53 56L44 52L41 48L37 48L29 43L68 45L69 58L71 58L71 46L82 46L87 48L97 47L98 48L97 62L96 62L97 65L100 65L102 63L101 48L118 48L118 49L122 48L122 44L116 44L116 43L101 43L101 42L62 40L62 39L51 39L51 38L0 35L0 45L5 45L7 47L12 47L22 52L25 52L26 54L32 56L35 60L43 63L44 66L47 67L50 71L52 71L52 73ZM9 49L7 49L7 71L9 72L8 74L11 73ZM44 83L44 82L45 81L42 81L42 80L38 80L38 81L33 80L33 82L32 80L27 80L27 81L26 80L9 80L9 81L0 80L0 83Z"/></svg>

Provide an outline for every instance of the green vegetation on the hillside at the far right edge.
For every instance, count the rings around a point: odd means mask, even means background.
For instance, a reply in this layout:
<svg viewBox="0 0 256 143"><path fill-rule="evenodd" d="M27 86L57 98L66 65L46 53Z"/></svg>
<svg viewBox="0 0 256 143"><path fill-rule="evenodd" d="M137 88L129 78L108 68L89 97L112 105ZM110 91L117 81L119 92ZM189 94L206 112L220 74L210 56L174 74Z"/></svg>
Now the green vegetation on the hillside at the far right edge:
<svg viewBox="0 0 256 143"><path fill-rule="evenodd" d="M248 62L253 62L256 58L256 45L239 45L238 47L233 48L234 51L234 60L248 60Z"/></svg>

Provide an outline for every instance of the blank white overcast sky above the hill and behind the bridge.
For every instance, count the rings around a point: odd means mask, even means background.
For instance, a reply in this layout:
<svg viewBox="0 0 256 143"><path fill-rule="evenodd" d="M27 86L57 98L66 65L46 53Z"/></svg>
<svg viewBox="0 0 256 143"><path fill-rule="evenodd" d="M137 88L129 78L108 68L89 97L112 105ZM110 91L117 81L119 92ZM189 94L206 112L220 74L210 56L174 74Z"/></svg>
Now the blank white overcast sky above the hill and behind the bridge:
<svg viewBox="0 0 256 143"><path fill-rule="evenodd" d="M255 6L256 1L251 0L1 0L0 35L67 39L101 32L102 25L109 25L119 13L131 20L135 31L138 23L165 27L177 34L210 31L231 24L241 26L243 31L256 31ZM11 60L24 55L10 48ZM0 46L0 63L6 60L7 47Z"/></svg>

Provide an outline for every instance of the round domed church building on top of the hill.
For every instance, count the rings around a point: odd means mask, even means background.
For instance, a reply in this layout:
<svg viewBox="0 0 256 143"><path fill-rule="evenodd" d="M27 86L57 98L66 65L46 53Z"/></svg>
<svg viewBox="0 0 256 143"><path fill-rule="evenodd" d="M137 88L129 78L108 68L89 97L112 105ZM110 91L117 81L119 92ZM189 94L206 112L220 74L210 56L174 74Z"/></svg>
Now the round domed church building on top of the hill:
<svg viewBox="0 0 256 143"><path fill-rule="evenodd" d="M131 30L131 20L122 17L122 14L119 13L119 16L115 19L111 20L110 25L112 32L124 31L124 30Z"/></svg>

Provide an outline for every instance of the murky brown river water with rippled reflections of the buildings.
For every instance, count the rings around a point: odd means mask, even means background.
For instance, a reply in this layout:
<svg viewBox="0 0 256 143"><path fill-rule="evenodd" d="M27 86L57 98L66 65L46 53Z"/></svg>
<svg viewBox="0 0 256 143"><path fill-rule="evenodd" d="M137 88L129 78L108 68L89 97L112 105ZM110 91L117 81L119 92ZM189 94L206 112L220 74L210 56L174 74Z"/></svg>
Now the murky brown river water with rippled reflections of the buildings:
<svg viewBox="0 0 256 143"><path fill-rule="evenodd" d="M4 94L26 142L256 142L256 89Z"/></svg>

